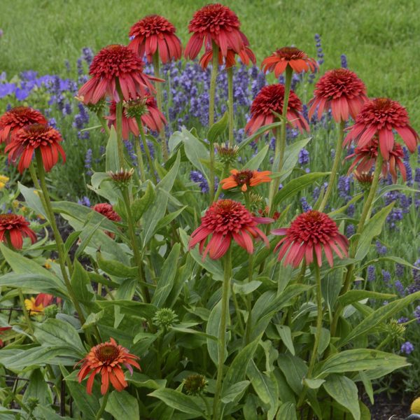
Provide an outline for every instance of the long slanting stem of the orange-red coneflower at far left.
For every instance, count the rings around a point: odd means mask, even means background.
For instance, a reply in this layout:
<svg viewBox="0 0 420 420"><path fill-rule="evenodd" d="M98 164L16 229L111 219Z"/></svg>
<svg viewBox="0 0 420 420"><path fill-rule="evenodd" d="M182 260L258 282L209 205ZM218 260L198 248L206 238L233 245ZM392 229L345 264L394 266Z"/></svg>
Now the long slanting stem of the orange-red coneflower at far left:
<svg viewBox="0 0 420 420"><path fill-rule="evenodd" d="M44 170L44 167L43 167L41 151L39 151L39 149L36 149L35 156L36 156L36 167L38 169L39 183L40 183L42 194L43 194L43 204L45 205L45 212L47 214L47 217L49 218L50 226L51 226L52 232L53 232L54 237L55 237L55 244L57 245L59 267L61 269L64 284L65 284L65 286L67 288L67 291L69 293L71 302L73 302L74 308L76 309L76 312L78 313L78 317L80 319L80 322L83 324L83 323L85 323L85 316L83 315L83 311L80 307L80 304L77 300L77 297L74 293L74 290L71 287L69 276L68 276L67 271L66 271L66 257L65 257L65 253L64 253L64 243L63 243L63 239L62 239L62 237L59 233L59 230L57 228L57 223L55 223L54 211L52 210L50 195L48 195L48 188L47 188L47 184L45 182L45 170ZM87 335L87 337L90 337L90 336Z"/></svg>

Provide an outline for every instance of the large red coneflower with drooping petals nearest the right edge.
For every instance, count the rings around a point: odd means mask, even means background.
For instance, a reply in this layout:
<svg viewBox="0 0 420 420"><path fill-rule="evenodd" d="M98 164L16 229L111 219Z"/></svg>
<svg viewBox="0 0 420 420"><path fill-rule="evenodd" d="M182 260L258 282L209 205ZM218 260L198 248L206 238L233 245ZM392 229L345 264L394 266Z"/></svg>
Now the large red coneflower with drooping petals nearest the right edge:
<svg viewBox="0 0 420 420"><path fill-rule="evenodd" d="M352 140L357 146L366 146L376 134L379 137L379 149L384 160L388 160L394 145L393 130L400 134L408 150L414 153L419 141L417 134L409 125L406 109L388 98L377 98L366 102L356 118L356 123L349 127L349 134L344 144Z"/></svg>

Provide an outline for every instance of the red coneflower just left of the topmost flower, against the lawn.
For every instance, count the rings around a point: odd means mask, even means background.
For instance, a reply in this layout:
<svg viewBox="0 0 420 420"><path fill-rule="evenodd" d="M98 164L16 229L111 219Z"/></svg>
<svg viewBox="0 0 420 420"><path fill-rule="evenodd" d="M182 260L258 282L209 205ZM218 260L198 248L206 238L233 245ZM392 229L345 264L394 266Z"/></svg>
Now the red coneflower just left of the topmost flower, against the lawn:
<svg viewBox="0 0 420 420"><path fill-rule="evenodd" d="M156 51L164 64L172 59L180 59L182 46L175 31L174 25L162 16L146 16L131 27L132 41L128 48L137 52L140 57L146 54L148 62L153 61Z"/></svg>

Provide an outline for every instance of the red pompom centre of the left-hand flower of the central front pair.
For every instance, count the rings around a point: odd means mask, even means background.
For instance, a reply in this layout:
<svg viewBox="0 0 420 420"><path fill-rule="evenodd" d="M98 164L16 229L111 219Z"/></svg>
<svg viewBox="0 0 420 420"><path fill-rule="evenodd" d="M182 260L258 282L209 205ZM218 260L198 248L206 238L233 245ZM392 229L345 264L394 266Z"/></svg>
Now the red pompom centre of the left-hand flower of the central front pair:
<svg viewBox="0 0 420 420"><path fill-rule="evenodd" d="M253 224L253 216L246 207L232 200L219 200L212 204L202 218L202 226L224 235L239 232L243 227Z"/></svg>

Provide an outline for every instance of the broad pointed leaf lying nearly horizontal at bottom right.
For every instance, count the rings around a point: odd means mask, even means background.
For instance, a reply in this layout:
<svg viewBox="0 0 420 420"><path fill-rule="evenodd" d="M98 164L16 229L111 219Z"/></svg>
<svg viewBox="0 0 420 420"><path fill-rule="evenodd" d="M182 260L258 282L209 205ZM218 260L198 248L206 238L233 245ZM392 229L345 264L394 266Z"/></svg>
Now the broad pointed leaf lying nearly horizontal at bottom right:
<svg viewBox="0 0 420 420"><path fill-rule="evenodd" d="M359 370L374 370L378 367L399 369L409 365L407 359L393 353L370 349L353 349L335 353L323 363L316 366L316 379L330 373L358 372Z"/></svg>

